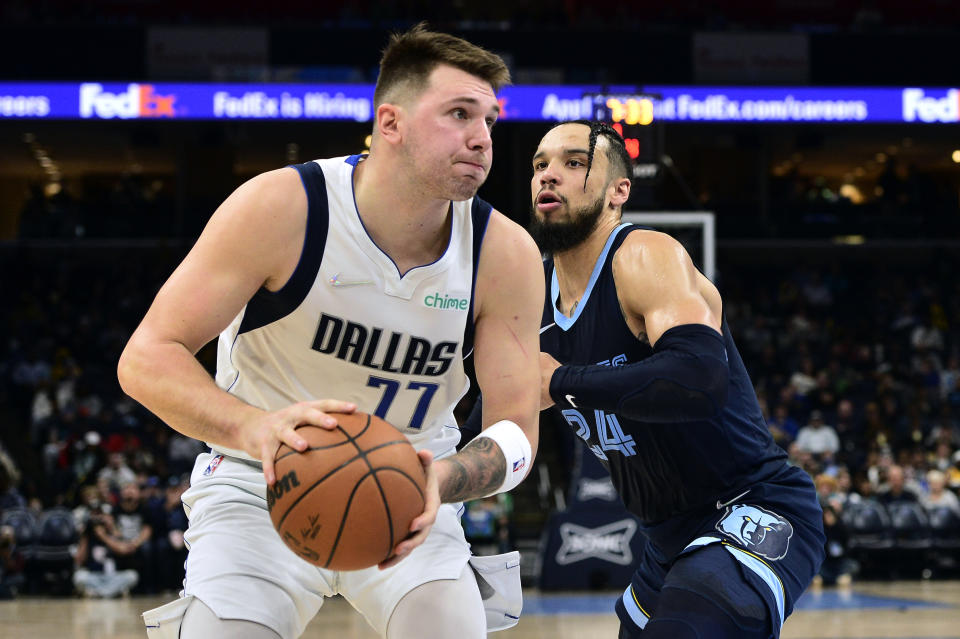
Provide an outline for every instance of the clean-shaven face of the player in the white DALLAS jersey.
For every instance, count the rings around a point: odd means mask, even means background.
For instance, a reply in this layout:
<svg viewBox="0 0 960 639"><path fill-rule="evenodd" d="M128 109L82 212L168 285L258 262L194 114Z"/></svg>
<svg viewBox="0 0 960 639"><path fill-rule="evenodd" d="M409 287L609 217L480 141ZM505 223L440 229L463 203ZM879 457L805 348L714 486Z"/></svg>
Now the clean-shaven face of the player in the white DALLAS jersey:
<svg viewBox="0 0 960 639"><path fill-rule="evenodd" d="M490 172L499 113L489 82L446 65L434 69L410 109L404 145L422 188L442 199L473 197Z"/></svg>

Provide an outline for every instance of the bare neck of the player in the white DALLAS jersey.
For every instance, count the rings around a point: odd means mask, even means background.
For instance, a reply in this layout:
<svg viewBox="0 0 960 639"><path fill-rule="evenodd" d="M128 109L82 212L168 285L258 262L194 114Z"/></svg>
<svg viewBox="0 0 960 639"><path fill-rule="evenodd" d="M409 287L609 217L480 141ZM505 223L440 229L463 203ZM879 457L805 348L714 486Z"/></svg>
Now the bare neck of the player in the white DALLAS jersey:
<svg viewBox="0 0 960 639"><path fill-rule="evenodd" d="M438 260L450 242L450 201L425 197L402 171L367 159L353 176L357 212L400 273Z"/></svg>

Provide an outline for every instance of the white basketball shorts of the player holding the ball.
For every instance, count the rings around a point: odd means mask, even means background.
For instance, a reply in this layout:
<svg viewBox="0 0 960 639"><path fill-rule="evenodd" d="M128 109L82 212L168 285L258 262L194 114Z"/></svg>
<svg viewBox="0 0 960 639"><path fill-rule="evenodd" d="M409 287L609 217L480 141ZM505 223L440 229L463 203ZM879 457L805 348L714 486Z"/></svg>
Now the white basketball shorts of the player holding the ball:
<svg viewBox="0 0 960 639"><path fill-rule="evenodd" d="M470 558L459 504L443 504L426 541L387 570L335 572L307 563L280 539L267 512L263 472L231 457L202 453L183 494L190 526L184 595L222 619L247 619L295 639L323 603L342 595L381 636L405 594L456 579Z"/></svg>

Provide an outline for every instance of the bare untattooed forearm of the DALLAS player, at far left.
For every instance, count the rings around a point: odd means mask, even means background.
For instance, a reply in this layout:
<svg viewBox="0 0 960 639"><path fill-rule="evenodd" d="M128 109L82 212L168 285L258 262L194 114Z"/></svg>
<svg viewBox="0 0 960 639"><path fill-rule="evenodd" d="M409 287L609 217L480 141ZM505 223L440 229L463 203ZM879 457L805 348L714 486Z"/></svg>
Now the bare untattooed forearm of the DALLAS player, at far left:
<svg viewBox="0 0 960 639"><path fill-rule="evenodd" d="M182 344L136 337L117 367L124 392L187 437L243 448L243 424L260 409L220 389Z"/></svg>

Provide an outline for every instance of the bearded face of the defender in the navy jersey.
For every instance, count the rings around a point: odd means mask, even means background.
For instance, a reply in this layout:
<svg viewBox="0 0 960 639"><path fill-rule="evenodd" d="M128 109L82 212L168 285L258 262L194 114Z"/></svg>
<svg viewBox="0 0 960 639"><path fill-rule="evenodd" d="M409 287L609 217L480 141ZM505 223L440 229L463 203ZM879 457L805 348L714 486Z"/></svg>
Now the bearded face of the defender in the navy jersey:
<svg viewBox="0 0 960 639"><path fill-rule="evenodd" d="M590 128L565 124L551 129L533 156L530 233L540 249L555 253L587 239L606 210L608 160L597 140L587 176Z"/></svg>

